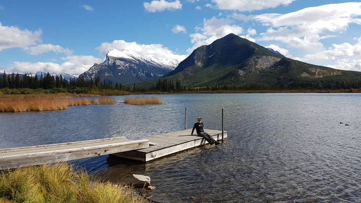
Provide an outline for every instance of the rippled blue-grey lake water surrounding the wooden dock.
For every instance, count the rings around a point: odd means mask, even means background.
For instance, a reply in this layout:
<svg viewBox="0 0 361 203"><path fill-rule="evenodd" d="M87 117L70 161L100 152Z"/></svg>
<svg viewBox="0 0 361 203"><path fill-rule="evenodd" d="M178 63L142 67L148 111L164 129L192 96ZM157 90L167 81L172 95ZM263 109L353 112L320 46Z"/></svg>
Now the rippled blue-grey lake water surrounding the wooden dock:
<svg viewBox="0 0 361 203"><path fill-rule="evenodd" d="M145 95L152 96L152 95ZM108 156L71 163L96 178L130 181L151 177L160 202L361 201L361 94L156 95L163 105L119 104L48 112L0 113L0 148L125 136L141 139L187 128L202 117L205 128L228 139L151 163ZM340 124L344 122L349 124Z"/></svg>

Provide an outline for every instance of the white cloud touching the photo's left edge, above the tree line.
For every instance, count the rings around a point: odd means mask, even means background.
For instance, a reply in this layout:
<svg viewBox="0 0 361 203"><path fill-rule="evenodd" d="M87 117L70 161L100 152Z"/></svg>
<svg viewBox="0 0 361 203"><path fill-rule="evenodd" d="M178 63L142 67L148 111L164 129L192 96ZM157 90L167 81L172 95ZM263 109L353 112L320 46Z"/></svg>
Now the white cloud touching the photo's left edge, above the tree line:
<svg viewBox="0 0 361 203"><path fill-rule="evenodd" d="M0 22L0 51L20 47L25 49L30 45L37 45L41 42L42 31L29 31L14 26L4 26Z"/></svg>

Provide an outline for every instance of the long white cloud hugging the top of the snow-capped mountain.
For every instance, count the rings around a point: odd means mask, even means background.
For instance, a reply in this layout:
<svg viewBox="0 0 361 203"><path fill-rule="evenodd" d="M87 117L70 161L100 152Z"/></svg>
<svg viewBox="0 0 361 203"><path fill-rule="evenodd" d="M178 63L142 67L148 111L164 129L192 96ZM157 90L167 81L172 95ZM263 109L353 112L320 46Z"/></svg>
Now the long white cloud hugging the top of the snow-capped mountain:
<svg viewBox="0 0 361 203"><path fill-rule="evenodd" d="M114 40L112 43L104 42L101 46L96 47L99 50L100 55L106 55L108 51L117 49L123 51L124 49L134 51L141 55L143 58L150 59L151 57L177 59L178 61L184 60L186 55L179 55L173 53L167 47L163 47L161 44L138 44L136 42L125 42L124 40Z"/></svg>

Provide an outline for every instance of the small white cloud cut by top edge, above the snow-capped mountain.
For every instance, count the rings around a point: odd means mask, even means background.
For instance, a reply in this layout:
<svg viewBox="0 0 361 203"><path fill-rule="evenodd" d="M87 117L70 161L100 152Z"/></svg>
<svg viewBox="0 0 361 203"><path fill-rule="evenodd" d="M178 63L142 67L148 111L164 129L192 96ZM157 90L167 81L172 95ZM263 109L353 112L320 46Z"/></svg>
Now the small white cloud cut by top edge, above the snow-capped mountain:
<svg viewBox="0 0 361 203"><path fill-rule="evenodd" d="M177 9L182 9L182 4L179 2L179 0L176 0L174 2L167 2L165 0L153 0L150 3L144 2L143 6L146 11L151 13L164 10L175 11Z"/></svg>

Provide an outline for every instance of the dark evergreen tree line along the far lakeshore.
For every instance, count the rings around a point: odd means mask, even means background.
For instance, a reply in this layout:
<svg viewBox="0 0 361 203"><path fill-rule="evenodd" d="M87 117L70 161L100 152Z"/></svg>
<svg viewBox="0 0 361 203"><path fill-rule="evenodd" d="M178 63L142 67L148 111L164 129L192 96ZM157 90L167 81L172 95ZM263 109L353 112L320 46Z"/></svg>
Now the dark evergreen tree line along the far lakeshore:
<svg viewBox="0 0 361 203"><path fill-rule="evenodd" d="M158 79L151 87L139 87L136 83L124 86L123 84L112 84L109 81L101 80L96 77L94 80L85 80L84 76L77 79L71 78L69 81L62 75L53 76L49 73L37 75L20 75L20 74L4 74L0 77L0 89L54 89L62 88L63 91L70 91L72 89L111 89L111 90L125 90L129 92L181 92L181 91L224 91L224 90L341 90L341 89L361 89L361 81L359 80L293 80L293 81L278 81L273 83L251 83L251 84L234 84L234 85L214 85L205 87L190 87L184 86L180 79L173 80Z"/></svg>

